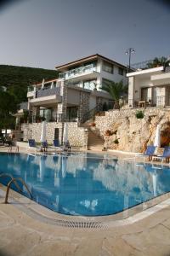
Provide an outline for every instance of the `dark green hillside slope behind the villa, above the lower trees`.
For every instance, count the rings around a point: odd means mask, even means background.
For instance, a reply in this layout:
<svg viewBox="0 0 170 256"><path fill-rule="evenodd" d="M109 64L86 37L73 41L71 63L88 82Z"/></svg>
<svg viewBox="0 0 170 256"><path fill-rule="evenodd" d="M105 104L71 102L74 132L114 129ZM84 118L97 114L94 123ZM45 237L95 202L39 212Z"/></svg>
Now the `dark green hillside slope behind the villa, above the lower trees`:
<svg viewBox="0 0 170 256"><path fill-rule="evenodd" d="M26 101L29 85L41 82L42 79L56 79L57 76L58 73L55 70L0 65L0 87L6 86L16 103Z"/></svg>

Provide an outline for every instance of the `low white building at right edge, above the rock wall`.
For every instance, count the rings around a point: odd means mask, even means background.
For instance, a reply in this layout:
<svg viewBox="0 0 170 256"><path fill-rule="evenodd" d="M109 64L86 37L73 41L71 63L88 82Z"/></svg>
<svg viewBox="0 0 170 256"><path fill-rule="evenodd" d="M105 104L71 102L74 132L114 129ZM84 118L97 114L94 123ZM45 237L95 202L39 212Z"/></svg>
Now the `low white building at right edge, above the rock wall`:
<svg viewBox="0 0 170 256"><path fill-rule="evenodd" d="M170 106L170 69L153 67L127 73L128 106Z"/></svg>

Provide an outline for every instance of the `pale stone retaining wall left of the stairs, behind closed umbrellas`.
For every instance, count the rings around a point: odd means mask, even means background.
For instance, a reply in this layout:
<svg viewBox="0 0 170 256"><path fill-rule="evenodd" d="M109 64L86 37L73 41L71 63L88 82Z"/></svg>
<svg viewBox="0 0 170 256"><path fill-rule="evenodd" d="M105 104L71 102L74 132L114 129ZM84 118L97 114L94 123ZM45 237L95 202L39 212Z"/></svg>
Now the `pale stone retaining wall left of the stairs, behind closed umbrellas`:
<svg viewBox="0 0 170 256"><path fill-rule="evenodd" d="M59 128L59 143L62 143L64 124L55 122L47 123L47 141L48 143L53 143L55 128ZM40 143L42 123L22 124L21 131L24 131L24 141L34 138L37 143ZM71 146L86 148L88 132L86 132L85 128L78 127L76 122L68 123L68 139Z"/></svg>

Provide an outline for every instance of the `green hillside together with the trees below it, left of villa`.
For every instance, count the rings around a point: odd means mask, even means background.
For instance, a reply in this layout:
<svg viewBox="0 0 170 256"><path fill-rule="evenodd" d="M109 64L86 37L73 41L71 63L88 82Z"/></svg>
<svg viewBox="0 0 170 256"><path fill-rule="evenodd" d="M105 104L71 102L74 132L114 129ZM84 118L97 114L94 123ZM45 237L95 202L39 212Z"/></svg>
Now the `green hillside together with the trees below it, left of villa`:
<svg viewBox="0 0 170 256"><path fill-rule="evenodd" d="M12 113L16 112L20 102L26 101L29 85L57 77L55 70L0 65L0 129L14 128Z"/></svg>

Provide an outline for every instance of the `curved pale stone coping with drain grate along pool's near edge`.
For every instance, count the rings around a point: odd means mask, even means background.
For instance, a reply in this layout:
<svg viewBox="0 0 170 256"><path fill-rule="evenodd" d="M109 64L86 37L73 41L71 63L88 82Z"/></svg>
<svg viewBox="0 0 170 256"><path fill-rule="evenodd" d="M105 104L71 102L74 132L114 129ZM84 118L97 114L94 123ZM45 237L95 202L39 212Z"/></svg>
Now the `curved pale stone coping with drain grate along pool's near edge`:
<svg viewBox="0 0 170 256"><path fill-rule="evenodd" d="M0 187L0 199L5 197L6 186L1 185ZM161 202L158 199L161 198ZM13 207L20 209L21 212L25 212L31 218L46 223L53 224L62 227L71 228L99 228L108 229L116 226L123 226L127 224L133 224L149 217L150 215L161 211L162 209L170 206L170 192L161 195L148 202L139 204L136 207L118 212L116 214L108 216L71 216L54 212L47 207L43 207L36 201L32 201L24 195L10 189L8 202ZM153 205L154 204L154 205ZM142 208L142 209L141 209ZM140 211L140 212L139 212ZM129 214L130 212L130 214ZM127 215L127 216L126 216ZM124 218L120 218L120 217Z"/></svg>

